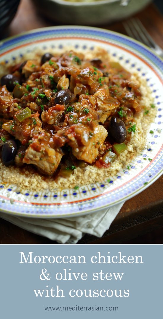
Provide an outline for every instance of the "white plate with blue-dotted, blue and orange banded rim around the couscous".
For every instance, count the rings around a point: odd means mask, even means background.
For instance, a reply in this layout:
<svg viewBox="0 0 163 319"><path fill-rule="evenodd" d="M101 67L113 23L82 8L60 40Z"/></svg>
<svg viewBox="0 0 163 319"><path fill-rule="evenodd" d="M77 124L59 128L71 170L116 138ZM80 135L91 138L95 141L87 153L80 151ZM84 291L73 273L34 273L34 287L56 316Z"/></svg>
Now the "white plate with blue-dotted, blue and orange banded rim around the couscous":
<svg viewBox="0 0 163 319"><path fill-rule="evenodd" d="M111 180L62 191L17 192L14 185L0 184L0 210L19 216L70 217L99 211L119 204L143 191L161 175L162 116L163 116L163 61L143 44L111 31L81 26L58 26L33 30L9 38L0 43L0 61L9 63L36 48L47 52L49 48L73 46L80 50L105 48L120 63L133 72L136 70L151 87L157 106L155 122L151 123L154 133L148 134L144 150L134 158L129 168L119 171ZM147 159L147 160L144 160ZM148 159L152 159L149 161Z"/></svg>

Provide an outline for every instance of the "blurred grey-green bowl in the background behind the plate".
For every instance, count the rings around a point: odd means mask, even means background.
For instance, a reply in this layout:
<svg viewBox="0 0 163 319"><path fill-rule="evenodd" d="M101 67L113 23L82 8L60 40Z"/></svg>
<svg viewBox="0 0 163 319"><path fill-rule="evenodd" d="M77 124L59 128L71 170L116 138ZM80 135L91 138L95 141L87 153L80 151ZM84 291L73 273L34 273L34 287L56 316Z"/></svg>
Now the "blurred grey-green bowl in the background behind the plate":
<svg viewBox="0 0 163 319"><path fill-rule="evenodd" d="M125 19L143 9L151 0L33 0L37 9L55 23L97 26Z"/></svg>

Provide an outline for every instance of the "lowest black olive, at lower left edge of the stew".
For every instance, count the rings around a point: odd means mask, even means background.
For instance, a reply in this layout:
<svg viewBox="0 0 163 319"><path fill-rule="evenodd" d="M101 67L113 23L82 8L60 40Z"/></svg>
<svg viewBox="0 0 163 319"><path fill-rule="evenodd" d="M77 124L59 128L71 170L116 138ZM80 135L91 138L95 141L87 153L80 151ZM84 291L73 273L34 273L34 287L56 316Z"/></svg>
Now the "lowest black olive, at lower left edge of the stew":
<svg viewBox="0 0 163 319"><path fill-rule="evenodd" d="M2 161L5 166L14 164L14 159L18 150L16 141L8 140L2 146Z"/></svg>

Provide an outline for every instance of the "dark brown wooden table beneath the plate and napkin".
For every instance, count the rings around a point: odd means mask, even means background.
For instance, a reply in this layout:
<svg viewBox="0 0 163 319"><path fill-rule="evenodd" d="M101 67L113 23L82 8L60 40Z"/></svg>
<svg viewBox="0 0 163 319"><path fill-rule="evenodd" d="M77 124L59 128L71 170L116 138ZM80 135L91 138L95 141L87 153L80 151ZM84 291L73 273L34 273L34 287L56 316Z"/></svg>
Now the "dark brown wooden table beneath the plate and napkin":
<svg viewBox="0 0 163 319"><path fill-rule="evenodd" d="M143 22L153 39L163 48L163 19L157 8L151 4L136 16ZM31 29L52 25L54 25L53 22L44 19L37 13L30 0L22 0L7 35L11 36ZM121 22L102 27L125 33ZM162 186L163 177L160 177L153 185L123 205L111 227L102 238L85 235L79 243L126 243L128 240L131 241L132 238L163 227ZM0 223L0 242L1 244L55 243L2 219Z"/></svg>

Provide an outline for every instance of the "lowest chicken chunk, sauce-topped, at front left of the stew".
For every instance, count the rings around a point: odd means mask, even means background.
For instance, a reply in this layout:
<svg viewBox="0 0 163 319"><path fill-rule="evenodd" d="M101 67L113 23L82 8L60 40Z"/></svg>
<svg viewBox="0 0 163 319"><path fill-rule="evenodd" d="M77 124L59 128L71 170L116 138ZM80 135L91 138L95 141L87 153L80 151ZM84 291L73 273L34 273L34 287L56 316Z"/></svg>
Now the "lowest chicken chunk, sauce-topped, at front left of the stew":
<svg viewBox="0 0 163 319"><path fill-rule="evenodd" d="M57 169L63 154L55 148L51 135L42 132L37 138L33 138L28 146L23 163L34 164L38 169L51 176Z"/></svg>

